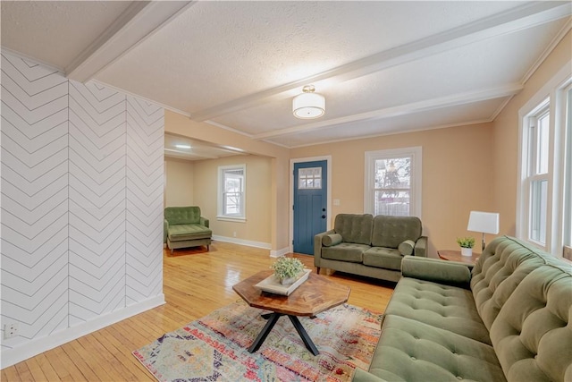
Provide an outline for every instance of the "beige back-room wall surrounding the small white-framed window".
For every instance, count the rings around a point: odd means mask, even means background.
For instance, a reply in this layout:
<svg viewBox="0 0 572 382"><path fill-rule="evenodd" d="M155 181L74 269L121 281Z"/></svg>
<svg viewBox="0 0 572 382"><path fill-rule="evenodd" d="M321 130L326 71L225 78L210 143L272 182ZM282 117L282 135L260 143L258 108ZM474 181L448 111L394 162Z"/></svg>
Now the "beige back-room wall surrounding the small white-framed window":
<svg viewBox="0 0 572 382"><path fill-rule="evenodd" d="M242 164L247 166L247 221L217 220L218 167ZM195 185L195 202L200 206L203 216L210 220L214 235L236 238L239 241L271 243L272 160L270 158L248 155L195 162Z"/></svg>

